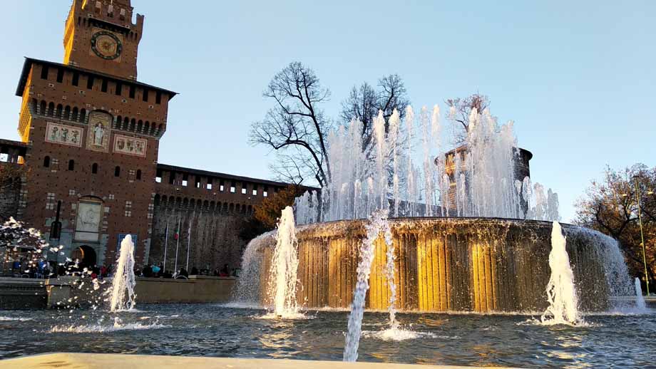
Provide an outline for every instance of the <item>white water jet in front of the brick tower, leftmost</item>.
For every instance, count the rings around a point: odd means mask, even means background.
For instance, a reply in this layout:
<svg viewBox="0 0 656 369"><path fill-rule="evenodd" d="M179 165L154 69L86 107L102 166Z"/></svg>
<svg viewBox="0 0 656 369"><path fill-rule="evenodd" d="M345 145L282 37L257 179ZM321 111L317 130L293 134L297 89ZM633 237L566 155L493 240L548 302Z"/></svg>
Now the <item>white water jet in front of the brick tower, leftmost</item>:
<svg viewBox="0 0 656 369"><path fill-rule="evenodd" d="M130 310L135 306L134 244L129 234L121 241L121 254L116 262L116 271L112 279L109 295L111 312Z"/></svg>

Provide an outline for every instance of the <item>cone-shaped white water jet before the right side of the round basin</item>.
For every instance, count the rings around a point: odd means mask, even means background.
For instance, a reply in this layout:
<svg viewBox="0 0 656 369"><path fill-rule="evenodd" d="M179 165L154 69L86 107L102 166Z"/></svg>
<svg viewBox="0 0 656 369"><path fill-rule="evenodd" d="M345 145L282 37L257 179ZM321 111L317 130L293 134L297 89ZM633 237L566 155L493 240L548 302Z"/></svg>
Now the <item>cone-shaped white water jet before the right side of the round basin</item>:
<svg viewBox="0 0 656 369"><path fill-rule="evenodd" d="M541 321L545 325L582 323L578 313L578 297L574 284L574 273L565 246L567 239L563 236L558 222L553 222L551 232L551 252L549 267L551 276L547 285L549 307L543 313Z"/></svg>

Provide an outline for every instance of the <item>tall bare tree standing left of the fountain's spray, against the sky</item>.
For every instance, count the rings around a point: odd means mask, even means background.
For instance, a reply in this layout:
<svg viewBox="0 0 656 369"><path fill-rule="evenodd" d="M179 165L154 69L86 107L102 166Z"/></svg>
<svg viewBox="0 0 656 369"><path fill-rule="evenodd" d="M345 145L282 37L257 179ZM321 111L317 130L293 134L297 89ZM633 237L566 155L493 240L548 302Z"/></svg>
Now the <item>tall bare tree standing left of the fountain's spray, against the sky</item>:
<svg viewBox="0 0 656 369"><path fill-rule="evenodd" d="M289 63L262 94L275 101L266 117L252 123L250 142L276 150L274 172L281 180L301 183L311 176L324 187L330 179L326 137L330 121L321 108L330 97L312 69Z"/></svg>

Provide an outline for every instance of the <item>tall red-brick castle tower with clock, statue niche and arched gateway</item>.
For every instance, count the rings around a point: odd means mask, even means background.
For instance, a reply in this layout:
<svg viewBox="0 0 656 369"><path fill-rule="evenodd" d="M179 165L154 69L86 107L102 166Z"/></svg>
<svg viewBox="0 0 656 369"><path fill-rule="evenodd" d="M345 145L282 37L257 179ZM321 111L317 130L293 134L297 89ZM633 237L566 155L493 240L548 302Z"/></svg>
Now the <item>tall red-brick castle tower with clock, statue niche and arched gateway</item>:
<svg viewBox="0 0 656 369"><path fill-rule="evenodd" d="M26 58L16 95L29 173L19 218L66 257L111 264L125 234L148 261L159 139L175 93L137 81L143 16L130 0L73 0L64 61Z"/></svg>

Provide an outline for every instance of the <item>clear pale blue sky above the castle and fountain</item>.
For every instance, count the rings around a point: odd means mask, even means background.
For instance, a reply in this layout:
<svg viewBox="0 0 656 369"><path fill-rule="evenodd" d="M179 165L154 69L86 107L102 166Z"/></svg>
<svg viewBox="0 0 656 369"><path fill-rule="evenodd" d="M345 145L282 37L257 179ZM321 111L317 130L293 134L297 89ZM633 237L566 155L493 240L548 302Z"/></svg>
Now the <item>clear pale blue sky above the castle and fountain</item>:
<svg viewBox="0 0 656 369"><path fill-rule="evenodd" d="M162 1L145 14L139 80L178 91L160 162L269 178L249 125L270 78L302 61L332 90L389 73L414 106L480 92L515 120L531 177L560 195L563 220L605 165L656 165L656 2ZM621 3L621 4L620 4ZM61 62L70 0L6 1L0 24L0 137L18 139L24 56ZM444 108L444 104L442 104Z"/></svg>

